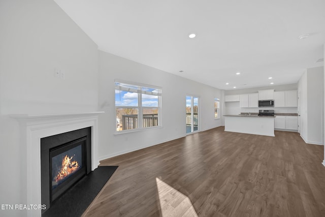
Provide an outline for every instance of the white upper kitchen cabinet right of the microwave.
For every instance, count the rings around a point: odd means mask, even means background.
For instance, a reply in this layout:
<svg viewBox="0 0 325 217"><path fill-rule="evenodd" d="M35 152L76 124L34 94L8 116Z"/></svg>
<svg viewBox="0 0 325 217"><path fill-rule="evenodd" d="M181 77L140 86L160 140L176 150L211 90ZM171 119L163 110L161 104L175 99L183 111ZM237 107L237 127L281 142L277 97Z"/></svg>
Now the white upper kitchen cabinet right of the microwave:
<svg viewBox="0 0 325 217"><path fill-rule="evenodd" d="M297 90L275 91L274 107L297 107Z"/></svg>

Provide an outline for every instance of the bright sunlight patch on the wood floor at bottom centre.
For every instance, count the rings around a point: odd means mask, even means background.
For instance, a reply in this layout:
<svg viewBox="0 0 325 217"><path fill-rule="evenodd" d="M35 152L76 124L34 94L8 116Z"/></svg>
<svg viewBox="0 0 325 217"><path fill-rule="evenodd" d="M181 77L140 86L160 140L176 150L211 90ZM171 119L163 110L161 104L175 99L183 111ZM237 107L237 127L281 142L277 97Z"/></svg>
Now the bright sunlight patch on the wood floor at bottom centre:
<svg viewBox="0 0 325 217"><path fill-rule="evenodd" d="M198 216L188 197L156 178L161 215L165 216Z"/></svg>

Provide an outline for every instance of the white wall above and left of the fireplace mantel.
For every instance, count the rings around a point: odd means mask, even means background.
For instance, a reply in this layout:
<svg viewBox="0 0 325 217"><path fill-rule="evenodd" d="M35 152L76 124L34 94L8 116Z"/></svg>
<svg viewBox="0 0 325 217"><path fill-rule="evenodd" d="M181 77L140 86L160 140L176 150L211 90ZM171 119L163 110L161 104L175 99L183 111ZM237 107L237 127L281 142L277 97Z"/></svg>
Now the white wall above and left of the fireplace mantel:
<svg viewBox="0 0 325 217"><path fill-rule="evenodd" d="M25 147L8 114L97 111L98 47L52 0L1 1L0 33L0 204L25 204Z"/></svg>

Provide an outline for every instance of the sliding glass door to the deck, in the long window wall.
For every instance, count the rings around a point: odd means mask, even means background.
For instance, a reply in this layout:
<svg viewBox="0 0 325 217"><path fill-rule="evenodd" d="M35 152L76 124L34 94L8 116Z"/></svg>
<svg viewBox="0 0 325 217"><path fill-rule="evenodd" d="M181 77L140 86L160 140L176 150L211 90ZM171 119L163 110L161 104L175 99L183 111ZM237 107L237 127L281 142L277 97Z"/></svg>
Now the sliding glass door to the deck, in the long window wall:
<svg viewBox="0 0 325 217"><path fill-rule="evenodd" d="M199 98L186 96L186 133L199 129Z"/></svg>

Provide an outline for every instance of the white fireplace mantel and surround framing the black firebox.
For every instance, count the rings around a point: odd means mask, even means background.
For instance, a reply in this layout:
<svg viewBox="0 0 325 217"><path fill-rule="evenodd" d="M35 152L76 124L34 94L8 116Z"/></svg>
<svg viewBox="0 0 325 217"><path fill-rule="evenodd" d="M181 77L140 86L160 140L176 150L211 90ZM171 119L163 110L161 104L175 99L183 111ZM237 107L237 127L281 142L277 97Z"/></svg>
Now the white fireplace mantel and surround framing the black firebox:
<svg viewBox="0 0 325 217"><path fill-rule="evenodd" d="M104 112L70 114L13 114L20 123L22 160L21 194L26 204L41 204L41 138L91 127L91 170L99 165L98 116ZM41 210L29 210L27 216L41 216Z"/></svg>

